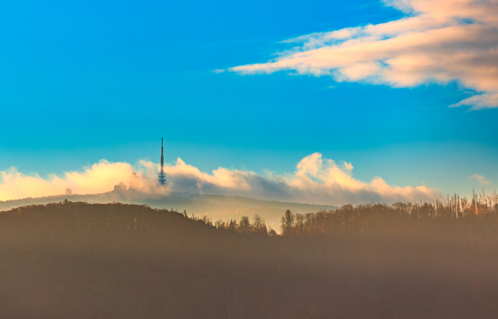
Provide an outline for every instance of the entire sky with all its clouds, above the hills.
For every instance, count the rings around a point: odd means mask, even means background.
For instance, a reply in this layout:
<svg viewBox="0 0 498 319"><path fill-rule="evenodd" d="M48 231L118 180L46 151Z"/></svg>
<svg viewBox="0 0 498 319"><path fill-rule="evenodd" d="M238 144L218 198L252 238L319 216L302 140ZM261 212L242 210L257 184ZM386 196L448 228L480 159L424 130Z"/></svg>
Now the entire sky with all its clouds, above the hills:
<svg viewBox="0 0 498 319"><path fill-rule="evenodd" d="M2 1L0 200L110 191L130 171L156 190L161 137L174 191L332 205L492 192L497 7Z"/></svg>

